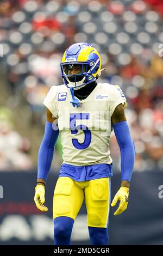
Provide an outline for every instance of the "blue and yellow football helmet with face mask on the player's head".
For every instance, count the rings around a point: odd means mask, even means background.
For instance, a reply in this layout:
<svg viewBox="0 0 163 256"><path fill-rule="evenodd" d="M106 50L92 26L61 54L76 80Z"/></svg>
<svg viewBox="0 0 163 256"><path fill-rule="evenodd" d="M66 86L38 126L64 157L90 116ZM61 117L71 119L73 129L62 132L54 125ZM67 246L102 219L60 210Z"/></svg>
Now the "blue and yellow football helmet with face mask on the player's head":
<svg viewBox="0 0 163 256"><path fill-rule="evenodd" d="M82 88L101 75L101 57L95 47L87 42L78 42L68 47L60 66L68 88Z"/></svg>

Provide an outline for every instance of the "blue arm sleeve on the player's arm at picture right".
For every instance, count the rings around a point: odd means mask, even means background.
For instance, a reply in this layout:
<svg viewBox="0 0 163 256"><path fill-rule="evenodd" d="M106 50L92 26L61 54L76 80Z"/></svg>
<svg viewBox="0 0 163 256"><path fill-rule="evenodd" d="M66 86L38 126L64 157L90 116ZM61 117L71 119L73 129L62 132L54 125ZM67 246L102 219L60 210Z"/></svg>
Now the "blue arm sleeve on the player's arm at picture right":
<svg viewBox="0 0 163 256"><path fill-rule="evenodd" d="M130 182L135 161L135 147L131 139L127 121L113 125L115 136L121 151L121 173L122 180Z"/></svg>

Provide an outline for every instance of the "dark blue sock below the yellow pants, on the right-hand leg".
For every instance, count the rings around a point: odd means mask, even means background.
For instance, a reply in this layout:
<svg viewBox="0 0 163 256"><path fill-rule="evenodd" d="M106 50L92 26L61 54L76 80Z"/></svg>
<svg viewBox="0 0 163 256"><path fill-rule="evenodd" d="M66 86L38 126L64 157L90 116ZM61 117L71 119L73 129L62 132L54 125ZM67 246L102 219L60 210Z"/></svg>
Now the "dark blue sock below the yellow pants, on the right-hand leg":
<svg viewBox="0 0 163 256"><path fill-rule="evenodd" d="M91 245L108 245L108 228L88 227Z"/></svg>

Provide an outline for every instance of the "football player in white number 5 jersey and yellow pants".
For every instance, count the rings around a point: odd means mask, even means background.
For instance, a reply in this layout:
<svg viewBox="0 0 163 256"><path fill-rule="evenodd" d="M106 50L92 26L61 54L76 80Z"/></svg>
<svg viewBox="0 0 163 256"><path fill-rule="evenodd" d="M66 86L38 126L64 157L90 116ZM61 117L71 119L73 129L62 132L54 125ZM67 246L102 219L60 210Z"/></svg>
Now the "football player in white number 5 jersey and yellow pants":
<svg viewBox="0 0 163 256"><path fill-rule="evenodd" d="M120 204L114 215L126 210L135 149L124 108L126 97L118 86L97 83L101 57L91 44L68 47L61 60L64 84L52 86L44 104L47 122L38 154L35 203L45 205L45 185L59 132L63 162L54 190L54 245L71 245L74 220L85 200L92 245L108 244L110 133L114 129L121 152L121 187L112 200Z"/></svg>

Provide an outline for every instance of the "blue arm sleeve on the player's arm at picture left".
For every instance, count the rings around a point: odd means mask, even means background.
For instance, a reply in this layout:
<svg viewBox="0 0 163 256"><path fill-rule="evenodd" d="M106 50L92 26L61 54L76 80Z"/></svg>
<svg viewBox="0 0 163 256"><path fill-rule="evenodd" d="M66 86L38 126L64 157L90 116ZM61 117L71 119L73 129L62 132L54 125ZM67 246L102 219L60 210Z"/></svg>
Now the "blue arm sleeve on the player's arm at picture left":
<svg viewBox="0 0 163 256"><path fill-rule="evenodd" d="M45 134L40 145L37 164L37 179L47 179L51 168L54 148L59 135L59 130L53 130L52 123L46 122Z"/></svg>

